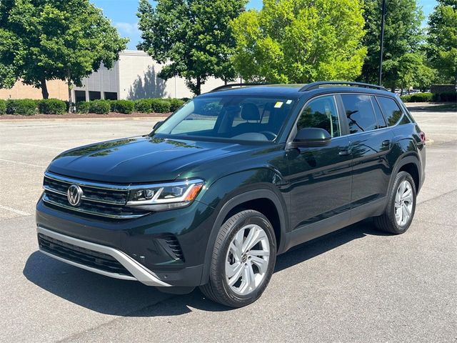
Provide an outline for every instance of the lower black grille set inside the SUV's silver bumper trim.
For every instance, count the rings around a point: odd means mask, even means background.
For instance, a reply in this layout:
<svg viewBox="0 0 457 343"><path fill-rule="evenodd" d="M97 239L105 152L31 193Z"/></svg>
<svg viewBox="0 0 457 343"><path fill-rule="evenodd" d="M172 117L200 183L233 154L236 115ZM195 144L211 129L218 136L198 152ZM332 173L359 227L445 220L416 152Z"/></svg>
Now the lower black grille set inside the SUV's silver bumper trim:
<svg viewBox="0 0 457 343"><path fill-rule="evenodd" d="M122 264L109 254L77 247L76 245L61 242L44 234L38 234L38 244L44 252L61 257L62 259L100 269L104 272L132 276Z"/></svg>

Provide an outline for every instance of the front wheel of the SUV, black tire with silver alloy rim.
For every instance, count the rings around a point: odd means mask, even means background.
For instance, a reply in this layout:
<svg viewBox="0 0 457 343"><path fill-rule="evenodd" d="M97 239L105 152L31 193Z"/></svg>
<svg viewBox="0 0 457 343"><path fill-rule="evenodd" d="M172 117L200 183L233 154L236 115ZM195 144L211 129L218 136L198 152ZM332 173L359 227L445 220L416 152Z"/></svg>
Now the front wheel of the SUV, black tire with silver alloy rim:
<svg viewBox="0 0 457 343"><path fill-rule="evenodd" d="M251 238L260 239L258 243L246 250L237 249L256 242L256 239L248 239L249 234ZM247 244L248 241L251 244ZM269 250L268 257L266 250ZM200 287L201 292L228 307L246 306L261 297L275 263L276 237L271 223L260 212L238 212L219 231L211 257L209 282Z"/></svg>

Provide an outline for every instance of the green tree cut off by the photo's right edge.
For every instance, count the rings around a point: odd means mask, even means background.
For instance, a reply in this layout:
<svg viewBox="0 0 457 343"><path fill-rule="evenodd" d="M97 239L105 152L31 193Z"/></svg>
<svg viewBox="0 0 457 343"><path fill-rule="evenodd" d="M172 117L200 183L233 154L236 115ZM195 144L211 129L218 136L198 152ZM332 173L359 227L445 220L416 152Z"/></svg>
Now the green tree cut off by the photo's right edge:
<svg viewBox="0 0 457 343"><path fill-rule="evenodd" d="M427 41L440 81L457 84L457 0L438 0L428 18Z"/></svg>

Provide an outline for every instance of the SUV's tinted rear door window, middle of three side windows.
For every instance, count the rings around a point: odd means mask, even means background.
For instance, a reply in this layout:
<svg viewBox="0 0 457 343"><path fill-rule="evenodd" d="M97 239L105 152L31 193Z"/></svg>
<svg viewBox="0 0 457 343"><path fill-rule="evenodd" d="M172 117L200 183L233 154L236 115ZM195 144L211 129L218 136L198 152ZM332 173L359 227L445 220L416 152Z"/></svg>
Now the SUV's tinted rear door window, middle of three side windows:
<svg viewBox="0 0 457 343"><path fill-rule="evenodd" d="M342 95L346 118L348 119L349 133L370 131L377 128L376 116L368 95Z"/></svg>

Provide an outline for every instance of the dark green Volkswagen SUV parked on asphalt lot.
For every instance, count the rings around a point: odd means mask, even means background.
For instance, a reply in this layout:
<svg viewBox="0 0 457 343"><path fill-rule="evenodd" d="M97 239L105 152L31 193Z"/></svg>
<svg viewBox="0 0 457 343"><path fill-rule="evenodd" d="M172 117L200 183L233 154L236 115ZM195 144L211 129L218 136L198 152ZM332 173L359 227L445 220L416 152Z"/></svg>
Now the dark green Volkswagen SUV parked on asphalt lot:
<svg viewBox="0 0 457 343"><path fill-rule="evenodd" d="M368 217L406 232L424 169L425 135L382 87L223 86L151 134L57 156L36 206L39 249L241 307L297 244Z"/></svg>

